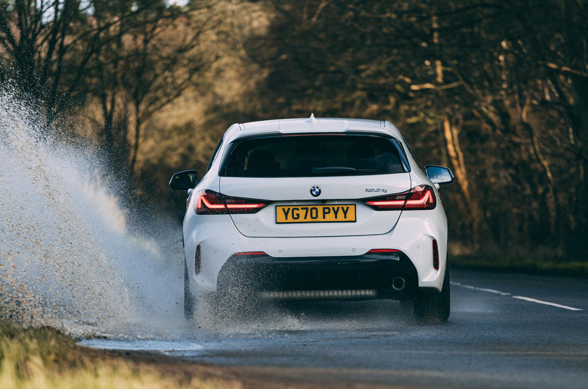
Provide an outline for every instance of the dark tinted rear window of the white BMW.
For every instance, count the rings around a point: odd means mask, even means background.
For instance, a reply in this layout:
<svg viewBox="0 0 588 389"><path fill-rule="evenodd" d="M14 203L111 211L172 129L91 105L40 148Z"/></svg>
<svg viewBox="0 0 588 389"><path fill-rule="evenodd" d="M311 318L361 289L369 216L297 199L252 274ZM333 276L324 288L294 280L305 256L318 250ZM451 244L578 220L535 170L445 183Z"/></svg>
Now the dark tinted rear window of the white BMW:
<svg viewBox="0 0 588 389"><path fill-rule="evenodd" d="M250 138L233 143L220 175L310 177L404 173L407 170L401 153L396 139L377 135Z"/></svg>

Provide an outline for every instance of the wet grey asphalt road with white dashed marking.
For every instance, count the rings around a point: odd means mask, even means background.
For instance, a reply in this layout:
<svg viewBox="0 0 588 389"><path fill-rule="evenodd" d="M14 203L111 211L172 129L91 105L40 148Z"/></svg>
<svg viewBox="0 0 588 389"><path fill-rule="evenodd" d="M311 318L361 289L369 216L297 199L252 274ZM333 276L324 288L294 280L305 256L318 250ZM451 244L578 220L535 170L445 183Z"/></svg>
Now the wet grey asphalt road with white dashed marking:
<svg viewBox="0 0 588 389"><path fill-rule="evenodd" d="M172 340L84 343L285 367L276 374L294 387L588 388L588 280L453 269L451 281L442 324L415 324L396 301L323 302L268 310L230 330L194 326Z"/></svg>

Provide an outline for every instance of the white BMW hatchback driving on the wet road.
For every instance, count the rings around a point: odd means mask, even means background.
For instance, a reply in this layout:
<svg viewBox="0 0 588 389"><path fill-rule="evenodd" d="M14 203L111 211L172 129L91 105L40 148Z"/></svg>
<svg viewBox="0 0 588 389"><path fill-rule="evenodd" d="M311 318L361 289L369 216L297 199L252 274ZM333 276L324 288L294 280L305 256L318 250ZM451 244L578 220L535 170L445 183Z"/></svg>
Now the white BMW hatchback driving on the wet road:
<svg viewBox="0 0 588 389"><path fill-rule="evenodd" d="M419 321L449 317L439 185L388 121L285 119L230 126L188 190L184 308L215 294L260 300L397 299Z"/></svg>

